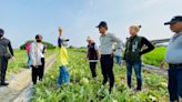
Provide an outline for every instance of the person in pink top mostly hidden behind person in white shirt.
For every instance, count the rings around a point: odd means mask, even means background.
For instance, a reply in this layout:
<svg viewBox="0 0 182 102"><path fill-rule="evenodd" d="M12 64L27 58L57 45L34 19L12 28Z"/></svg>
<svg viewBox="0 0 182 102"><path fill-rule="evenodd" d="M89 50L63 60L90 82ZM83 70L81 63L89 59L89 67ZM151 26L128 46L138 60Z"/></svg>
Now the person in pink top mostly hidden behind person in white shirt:
<svg viewBox="0 0 182 102"><path fill-rule="evenodd" d="M27 55L28 55L28 61L27 61L27 68L31 68L31 60L30 60L30 45L31 45L31 42L27 42L26 44L26 51L27 51Z"/></svg>

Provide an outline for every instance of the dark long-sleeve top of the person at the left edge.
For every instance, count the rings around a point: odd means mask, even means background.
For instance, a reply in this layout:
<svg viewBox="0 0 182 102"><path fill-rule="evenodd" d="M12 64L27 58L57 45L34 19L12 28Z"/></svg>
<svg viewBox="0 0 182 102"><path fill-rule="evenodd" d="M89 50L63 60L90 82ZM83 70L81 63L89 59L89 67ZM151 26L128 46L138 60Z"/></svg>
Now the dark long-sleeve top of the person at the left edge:
<svg viewBox="0 0 182 102"><path fill-rule="evenodd" d="M9 52L11 53L11 55L13 57L13 49L11 47L11 41L2 38L0 39L0 55L3 55L4 53L8 52L7 48L9 49Z"/></svg>

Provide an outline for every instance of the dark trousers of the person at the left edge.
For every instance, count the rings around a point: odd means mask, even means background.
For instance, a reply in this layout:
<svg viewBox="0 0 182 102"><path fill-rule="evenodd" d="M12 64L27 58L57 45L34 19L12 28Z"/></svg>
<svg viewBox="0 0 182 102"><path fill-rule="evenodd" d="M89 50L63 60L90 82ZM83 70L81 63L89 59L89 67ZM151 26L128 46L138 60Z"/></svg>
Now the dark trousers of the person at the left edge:
<svg viewBox="0 0 182 102"><path fill-rule="evenodd" d="M0 57L0 81L1 84L6 81L6 73L8 68L8 59Z"/></svg>

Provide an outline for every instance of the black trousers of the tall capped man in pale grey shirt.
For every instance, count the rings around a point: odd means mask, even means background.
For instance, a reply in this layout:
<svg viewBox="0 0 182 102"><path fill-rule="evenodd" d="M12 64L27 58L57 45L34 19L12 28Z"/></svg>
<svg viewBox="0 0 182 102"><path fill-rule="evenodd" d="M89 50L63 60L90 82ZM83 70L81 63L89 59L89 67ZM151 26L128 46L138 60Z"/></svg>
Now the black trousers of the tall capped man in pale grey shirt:
<svg viewBox="0 0 182 102"><path fill-rule="evenodd" d="M103 84L110 81L110 91L114 85L114 75L113 75L113 58L109 55L101 55L101 69L103 75Z"/></svg>

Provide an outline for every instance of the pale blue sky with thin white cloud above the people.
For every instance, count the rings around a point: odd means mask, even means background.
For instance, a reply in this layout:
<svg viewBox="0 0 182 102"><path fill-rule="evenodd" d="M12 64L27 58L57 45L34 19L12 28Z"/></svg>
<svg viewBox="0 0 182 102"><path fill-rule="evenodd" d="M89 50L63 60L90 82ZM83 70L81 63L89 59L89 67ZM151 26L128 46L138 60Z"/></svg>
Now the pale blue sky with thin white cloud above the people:
<svg viewBox="0 0 182 102"><path fill-rule="evenodd" d="M71 45L87 45L88 35L99 44L94 27L102 20L123 41L131 24L142 24L140 35L162 39L172 35L163 22L182 14L181 4L182 0L0 0L0 28L13 48L38 33L57 44L59 26Z"/></svg>

